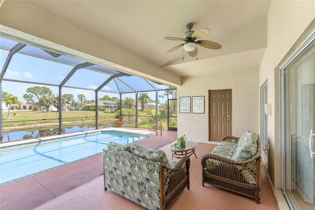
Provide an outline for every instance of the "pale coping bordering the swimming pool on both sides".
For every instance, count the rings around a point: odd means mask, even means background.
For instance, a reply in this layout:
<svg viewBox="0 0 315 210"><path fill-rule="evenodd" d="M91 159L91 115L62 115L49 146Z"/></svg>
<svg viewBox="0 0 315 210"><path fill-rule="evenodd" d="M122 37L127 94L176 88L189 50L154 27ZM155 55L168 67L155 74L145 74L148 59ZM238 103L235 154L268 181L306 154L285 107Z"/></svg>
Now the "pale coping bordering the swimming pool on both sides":
<svg viewBox="0 0 315 210"><path fill-rule="evenodd" d="M22 146L22 145L26 145L26 144L29 144L29 143L36 143L36 142L39 142L39 141L48 141L48 140L55 140L55 139L60 139L60 138L66 138L66 137L74 137L74 136L78 136L78 135L82 135L82 134L96 133L96 132L100 132L100 131L119 131L119 132L122 132L122 133L138 134L140 136L147 136L148 137L147 139L151 139L153 137L152 133L154 133L152 131L143 131L143 130L136 130L136 129L129 129L129 128L114 128L113 127L113 128L104 128L104 129L90 130L90 131L80 131L80 132L75 132L75 133L62 134L62 135L58 135L58 136L50 136L50 137L43 137L43 138L36 138L36 139L30 139L30 140L19 140L19 141L23 141L23 142L14 142L14 141L5 142L5 143L2 143L2 144L6 144L7 143L8 145L4 145L4 146L0 145L0 149L12 147L12 146ZM147 139L144 139L144 140L147 140ZM138 140L138 141L142 141L142 140ZM94 155L90 155L88 157L80 158L78 160L74 160L74 161L71 161L69 163L65 163L65 164L59 165L59 166L55 166L55 167L52 167L52 168L49 168L49 169L46 169L46 170L42 170L40 172L36 172L36 173L30 174L30 175L25 175L23 177L19 177L19 178L15 178L15 179L12 179L12 180L9 180L9 181L5 181L5 182L0 183L0 187L3 187L3 186L6 186L6 185L9 185L9 184L18 182L18 181L22 181L22 180L31 178L31 177L33 177L35 175L45 174L47 172L51 172L53 170L63 168L65 166L68 166L68 165L71 165L71 164L74 164L74 163L77 163L77 162L80 162L80 161L83 161L83 160L87 160L89 158L92 158L92 157L95 157L95 156L98 156L98 155L101 155L101 154L102 154L102 152L94 154Z"/></svg>

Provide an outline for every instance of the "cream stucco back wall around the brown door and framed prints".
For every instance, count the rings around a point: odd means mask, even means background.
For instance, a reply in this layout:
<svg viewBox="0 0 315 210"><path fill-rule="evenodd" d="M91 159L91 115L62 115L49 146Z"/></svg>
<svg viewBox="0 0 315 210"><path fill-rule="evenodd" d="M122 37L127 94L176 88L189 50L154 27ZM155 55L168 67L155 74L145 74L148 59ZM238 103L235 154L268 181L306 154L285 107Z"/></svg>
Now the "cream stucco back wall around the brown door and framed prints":
<svg viewBox="0 0 315 210"><path fill-rule="evenodd" d="M209 90L232 89L232 135L240 137L247 130L259 132L258 69L230 70L217 74L183 78L177 88L179 97L205 96L205 113L178 113L178 136L208 142Z"/></svg>

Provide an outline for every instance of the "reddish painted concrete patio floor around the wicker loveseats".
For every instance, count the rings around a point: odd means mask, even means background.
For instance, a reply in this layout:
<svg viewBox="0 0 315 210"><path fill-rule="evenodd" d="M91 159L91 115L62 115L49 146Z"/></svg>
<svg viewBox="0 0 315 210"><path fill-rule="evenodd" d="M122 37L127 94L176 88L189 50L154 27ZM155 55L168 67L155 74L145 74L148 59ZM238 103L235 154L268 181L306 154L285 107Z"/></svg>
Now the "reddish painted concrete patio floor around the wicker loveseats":
<svg viewBox="0 0 315 210"><path fill-rule="evenodd" d="M162 136L138 142L150 149L165 151L168 158L172 152L167 148L175 140L177 132L163 131ZM211 152L217 145L199 143L195 156L190 156L190 187L185 189L169 210L189 209L243 209L277 210L278 205L269 182L267 171L261 167L260 205L251 198L220 189L215 186L202 186L202 155ZM103 210L143 210L142 206L112 192L104 191L103 156L83 160L42 175L19 181L0 188L1 210L63 210L63 209L103 209Z"/></svg>

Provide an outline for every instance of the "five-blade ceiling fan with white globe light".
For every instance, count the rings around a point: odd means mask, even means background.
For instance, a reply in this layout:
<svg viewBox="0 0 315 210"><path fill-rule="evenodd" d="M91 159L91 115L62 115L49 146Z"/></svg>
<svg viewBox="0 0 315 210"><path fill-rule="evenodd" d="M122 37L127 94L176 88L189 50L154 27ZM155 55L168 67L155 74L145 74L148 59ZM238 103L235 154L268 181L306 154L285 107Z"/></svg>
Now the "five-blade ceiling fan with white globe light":
<svg viewBox="0 0 315 210"><path fill-rule="evenodd" d="M221 49L221 44L218 44L214 41L208 41L208 40L196 40L199 38L202 38L210 33L210 30L207 28L199 29L198 31L191 31L193 24L189 23L186 25L186 28L189 30L184 34L184 38L179 37L172 37L172 36L165 36L165 39L168 40L179 40L179 41L185 41L185 43L179 44L171 49L169 49L165 54L174 52L175 50L181 48L184 46L185 51L188 51L189 55L191 57L195 57L198 54L197 44L199 44L202 47L218 50Z"/></svg>

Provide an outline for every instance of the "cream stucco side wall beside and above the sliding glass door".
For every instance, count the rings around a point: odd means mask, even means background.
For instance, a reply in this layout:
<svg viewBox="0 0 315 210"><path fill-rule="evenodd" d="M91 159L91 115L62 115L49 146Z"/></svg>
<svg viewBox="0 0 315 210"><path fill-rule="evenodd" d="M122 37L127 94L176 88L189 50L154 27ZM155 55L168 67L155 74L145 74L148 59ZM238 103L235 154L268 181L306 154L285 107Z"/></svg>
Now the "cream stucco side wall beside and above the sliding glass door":
<svg viewBox="0 0 315 210"><path fill-rule="evenodd" d="M259 68L259 87L268 79L268 103L272 105L272 115L268 116L268 173L275 188L281 187L279 68L314 31L314 18L315 1L270 3L267 50Z"/></svg>

